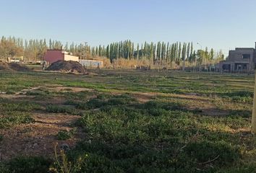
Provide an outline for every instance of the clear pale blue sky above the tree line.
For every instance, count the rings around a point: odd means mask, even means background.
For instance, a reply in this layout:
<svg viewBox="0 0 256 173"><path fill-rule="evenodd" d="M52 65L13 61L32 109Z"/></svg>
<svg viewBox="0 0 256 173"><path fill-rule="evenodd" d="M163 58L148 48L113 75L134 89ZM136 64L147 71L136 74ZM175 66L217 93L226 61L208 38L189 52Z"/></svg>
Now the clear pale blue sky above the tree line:
<svg viewBox="0 0 256 173"><path fill-rule="evenodd" d="M227 55L255 47L255 0L0 0L0 35L107 45L193 42ZM200 43L197 45L197 43Z"/></svg>

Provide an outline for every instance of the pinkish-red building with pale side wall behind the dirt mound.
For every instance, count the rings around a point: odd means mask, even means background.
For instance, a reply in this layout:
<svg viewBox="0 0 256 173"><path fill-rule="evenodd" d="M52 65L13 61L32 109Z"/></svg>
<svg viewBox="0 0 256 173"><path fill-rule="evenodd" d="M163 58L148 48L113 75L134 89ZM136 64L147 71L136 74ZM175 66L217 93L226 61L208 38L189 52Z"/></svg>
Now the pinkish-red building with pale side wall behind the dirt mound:
<svg viewBox="0 0 256 173"><path fill-rule="evenodd" d="M46 54L43 57L43 60L49 64L56 61L77 61L79 62L78 56L72 56L72 53L68 53L64 50L47 50Z"/></svg>

